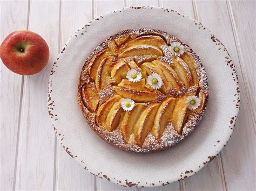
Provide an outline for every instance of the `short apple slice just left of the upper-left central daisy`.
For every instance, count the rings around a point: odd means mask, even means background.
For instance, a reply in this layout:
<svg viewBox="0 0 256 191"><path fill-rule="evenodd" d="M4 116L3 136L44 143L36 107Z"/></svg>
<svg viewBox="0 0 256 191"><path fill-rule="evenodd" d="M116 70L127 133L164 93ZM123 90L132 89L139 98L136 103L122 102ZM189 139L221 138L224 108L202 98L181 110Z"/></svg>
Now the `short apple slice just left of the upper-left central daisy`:
<svg viewBox="0 0 256 191"><path fill-rule="evenodd" d="M129 71L129 67L127 64L121 60L116 65L114 65L111 71L111 78L113 84L118 84L122 81L122 79L126 78L126 74Z"/></svg>

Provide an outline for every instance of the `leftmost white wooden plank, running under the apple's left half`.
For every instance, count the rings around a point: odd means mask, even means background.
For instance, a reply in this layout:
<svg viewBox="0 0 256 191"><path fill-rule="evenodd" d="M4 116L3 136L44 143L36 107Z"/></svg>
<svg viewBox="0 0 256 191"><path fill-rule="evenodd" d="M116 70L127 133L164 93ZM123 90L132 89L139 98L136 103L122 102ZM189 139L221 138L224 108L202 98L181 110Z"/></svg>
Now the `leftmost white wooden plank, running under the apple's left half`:
<svg viewBox="0 0 256 191"><path fill-rule="evenodd" d="M12 31L26 30L27 18L28 1L0 1L0 43ZM0 189L11 190L15 183L23 77L12 73L1 59L0 63Z"/></svg>

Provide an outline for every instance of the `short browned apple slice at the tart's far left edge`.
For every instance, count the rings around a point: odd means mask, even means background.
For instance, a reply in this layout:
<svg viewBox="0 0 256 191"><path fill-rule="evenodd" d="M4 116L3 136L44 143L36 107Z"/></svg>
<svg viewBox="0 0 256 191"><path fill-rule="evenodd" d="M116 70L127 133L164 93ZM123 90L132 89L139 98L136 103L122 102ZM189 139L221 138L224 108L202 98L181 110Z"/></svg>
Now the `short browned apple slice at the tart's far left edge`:
<svg viewBox="0 0 256 191"><path fill-rule="evenodd" d="M82 89L83 102L87 109L95 112L99 104L99 95L94 84L85 84Z"/></svg>

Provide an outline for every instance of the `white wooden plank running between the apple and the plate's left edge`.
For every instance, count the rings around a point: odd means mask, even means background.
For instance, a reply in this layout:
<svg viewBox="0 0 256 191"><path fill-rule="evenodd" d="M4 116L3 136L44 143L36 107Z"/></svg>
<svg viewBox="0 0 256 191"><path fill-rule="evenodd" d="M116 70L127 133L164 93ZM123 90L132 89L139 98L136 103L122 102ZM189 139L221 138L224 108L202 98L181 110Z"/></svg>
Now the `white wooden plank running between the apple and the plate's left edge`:
<svg viewBox="0 0 256 191"><path fill-rule="evenodd" d="M41 73L25 76L16 189L53 188L55 133L46 97L50 70L58 52L58 28L59 1L30 1L29 30L46 40L50 59Z"/></svg>

